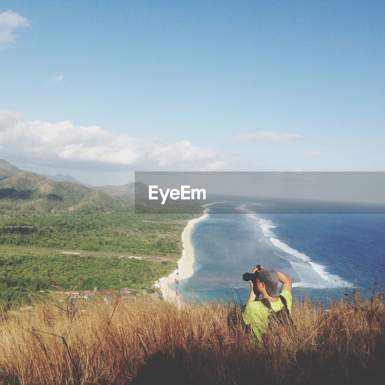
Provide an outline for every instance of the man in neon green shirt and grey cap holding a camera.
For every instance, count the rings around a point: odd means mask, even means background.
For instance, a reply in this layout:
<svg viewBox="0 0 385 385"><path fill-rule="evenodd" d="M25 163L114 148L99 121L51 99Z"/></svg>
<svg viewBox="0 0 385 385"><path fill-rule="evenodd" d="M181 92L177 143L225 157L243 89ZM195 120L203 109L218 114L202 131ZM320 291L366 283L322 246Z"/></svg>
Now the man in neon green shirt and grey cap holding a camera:
<svg viewBox="0 0 385 385"><path fill-rule="evenodd" d="M253 273L256 271L257 269L254 269ZM282 283L282 299L278 293L278 281ZM261 340L269 324L269 314L273 315L273 312L280 312L281 314L288 312L290 317L292 303L291 278L280 271L261 266L261 269L258 270L256 288L254 288L253 282L249 281L249 283L250 295L246 301L242 316L246 325L251 324L254 335L258 340ZM263 297L261 301L256 301L256 293L258 292L261 293ZM290 327L290 324L288 327Z"/></svg>

